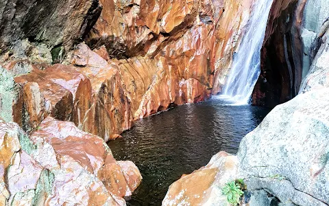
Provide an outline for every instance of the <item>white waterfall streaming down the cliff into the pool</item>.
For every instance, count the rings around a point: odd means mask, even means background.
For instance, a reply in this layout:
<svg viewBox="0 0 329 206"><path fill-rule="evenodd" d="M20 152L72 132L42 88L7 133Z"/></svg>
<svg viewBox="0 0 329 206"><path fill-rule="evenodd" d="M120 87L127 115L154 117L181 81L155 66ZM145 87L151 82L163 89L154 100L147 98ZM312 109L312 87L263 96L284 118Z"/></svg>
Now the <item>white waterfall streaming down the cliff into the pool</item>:
<svg viewBox="0 0 329 206"><path fill-rule="evenodd" d="M233 59L232 69L223 95L234 104L249 104L252 91L260 74L260 49L267 27L267 19L273 0L258 0L254 3L247 30L239 51Z"/></svg>

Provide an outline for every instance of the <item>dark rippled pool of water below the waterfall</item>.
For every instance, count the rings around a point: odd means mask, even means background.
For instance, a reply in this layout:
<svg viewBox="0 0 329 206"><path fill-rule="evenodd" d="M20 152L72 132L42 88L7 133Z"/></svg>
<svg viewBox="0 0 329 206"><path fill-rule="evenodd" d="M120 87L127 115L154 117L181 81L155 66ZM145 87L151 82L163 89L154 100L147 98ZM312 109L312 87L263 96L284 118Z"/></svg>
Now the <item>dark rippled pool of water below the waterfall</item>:
<svg viewBox="0 0 329 206"><path fill-rule="evenodd" d="M161 205L171 183L206 165L221 150L235 154L241 139L267 113L265 108L228 106L212 99L136 122L123 138L108 144L117 160L133 161L143 176L127 205Z"/></svg>

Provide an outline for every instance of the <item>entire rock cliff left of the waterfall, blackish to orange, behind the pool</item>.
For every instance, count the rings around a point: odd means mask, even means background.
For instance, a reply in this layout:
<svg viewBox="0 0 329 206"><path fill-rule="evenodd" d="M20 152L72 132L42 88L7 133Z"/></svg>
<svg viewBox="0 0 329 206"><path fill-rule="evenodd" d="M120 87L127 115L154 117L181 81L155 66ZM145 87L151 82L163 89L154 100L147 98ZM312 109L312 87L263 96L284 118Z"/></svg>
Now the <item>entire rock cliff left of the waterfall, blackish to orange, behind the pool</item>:
<svg viewBox="0 0 329 206"><path fill-rule="evenodd" d="M207 100L225 84L252 3L1 1L1 117L27 132L53 117L108 141L136 119Z"/></svg>

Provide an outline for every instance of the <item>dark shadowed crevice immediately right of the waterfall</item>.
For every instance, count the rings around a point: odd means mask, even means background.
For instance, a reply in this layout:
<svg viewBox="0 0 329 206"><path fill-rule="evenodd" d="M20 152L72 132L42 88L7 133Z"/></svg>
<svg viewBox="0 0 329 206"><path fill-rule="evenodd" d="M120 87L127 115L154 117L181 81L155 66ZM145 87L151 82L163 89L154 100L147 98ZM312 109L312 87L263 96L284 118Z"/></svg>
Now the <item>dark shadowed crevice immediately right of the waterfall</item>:
<svg viewBox="0 0 329 206"><path fill-rule="evenodd" d="M261 51L260 77L252 94L252 104L269 108L294 98L302 82L300 26L304 5L291 0L285 10L279 10L281 6L280 0L273 1Z"/></svg>

